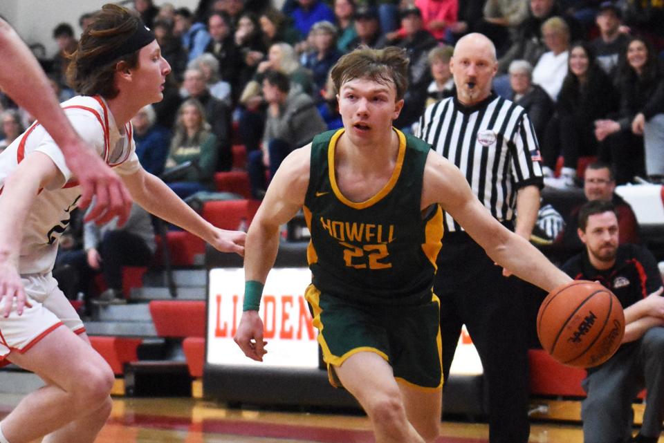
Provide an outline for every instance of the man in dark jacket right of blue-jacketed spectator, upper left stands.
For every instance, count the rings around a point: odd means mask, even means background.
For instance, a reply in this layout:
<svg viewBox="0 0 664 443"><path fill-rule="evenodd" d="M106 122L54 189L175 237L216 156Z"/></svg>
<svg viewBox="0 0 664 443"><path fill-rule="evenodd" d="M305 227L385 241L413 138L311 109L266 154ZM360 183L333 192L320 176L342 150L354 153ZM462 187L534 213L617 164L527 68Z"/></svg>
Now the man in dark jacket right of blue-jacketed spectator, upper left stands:
<svg viewBox="0 0 664 443"><path fill-rule="evenodd" d="M222 12L213 12L208 18L208 30L210 30L210 43L205 47L205 52L214 55L219 61L219 78L230 83L233 102L236 102L239 92L234 85L237 83L243 62L235 44L228 16Z"/></svg>

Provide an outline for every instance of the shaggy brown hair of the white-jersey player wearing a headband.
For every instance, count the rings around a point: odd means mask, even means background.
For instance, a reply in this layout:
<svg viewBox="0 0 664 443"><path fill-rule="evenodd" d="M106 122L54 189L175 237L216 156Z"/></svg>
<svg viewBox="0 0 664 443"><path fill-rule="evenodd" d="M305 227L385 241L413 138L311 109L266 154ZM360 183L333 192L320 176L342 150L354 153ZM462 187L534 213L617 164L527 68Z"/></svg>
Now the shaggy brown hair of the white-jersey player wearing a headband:
<svg viewBox="0 0 664 443"><path fill-rule="evenodd" d="M138 12L110 3L102 6L93 15L93 21L83 31L78 47L69 56L69 86L82 95L101 95L107 99L116 97L120 93L113 82L117 64L124 62L124 68L136 68L140 49L113 60L106 58L120 48L138 26L142 26Z"/></svg>

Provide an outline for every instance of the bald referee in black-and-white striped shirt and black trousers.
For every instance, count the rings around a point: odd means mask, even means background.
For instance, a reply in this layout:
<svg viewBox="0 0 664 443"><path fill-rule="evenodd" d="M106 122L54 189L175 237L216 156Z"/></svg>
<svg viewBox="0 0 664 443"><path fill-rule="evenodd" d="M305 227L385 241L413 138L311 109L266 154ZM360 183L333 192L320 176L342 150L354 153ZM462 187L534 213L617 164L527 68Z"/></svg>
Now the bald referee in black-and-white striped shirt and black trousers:
<svg viewBox="0 0 664 443"><path fill-rule="evenodd" d="M491 91L496 50L484 35L459 40L450 70L456 97L429 106L416 135L461 169L492 216L528 239L542 187L533 126L521 106ZM445 381L465 324L488 386L490 443L526 443L528 359L520 281L495 265L450 214L444 223L434 292L441 299Z"/></svg>

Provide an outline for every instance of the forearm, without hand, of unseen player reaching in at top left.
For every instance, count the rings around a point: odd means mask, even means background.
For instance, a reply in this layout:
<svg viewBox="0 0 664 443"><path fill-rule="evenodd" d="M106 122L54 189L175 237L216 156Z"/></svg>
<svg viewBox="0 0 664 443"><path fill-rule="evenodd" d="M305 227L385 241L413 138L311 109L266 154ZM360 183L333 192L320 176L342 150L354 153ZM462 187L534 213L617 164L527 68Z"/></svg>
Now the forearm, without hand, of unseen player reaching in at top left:
<svg viewBox="0 0 664 443"><path fill-rule="evenodd" d="M11 63L0 64L3 90L44 125L65 156L70 149L77 149L80 138L60 109L37 59L17 33L1 19L0 59L11 60Z"/></svg>

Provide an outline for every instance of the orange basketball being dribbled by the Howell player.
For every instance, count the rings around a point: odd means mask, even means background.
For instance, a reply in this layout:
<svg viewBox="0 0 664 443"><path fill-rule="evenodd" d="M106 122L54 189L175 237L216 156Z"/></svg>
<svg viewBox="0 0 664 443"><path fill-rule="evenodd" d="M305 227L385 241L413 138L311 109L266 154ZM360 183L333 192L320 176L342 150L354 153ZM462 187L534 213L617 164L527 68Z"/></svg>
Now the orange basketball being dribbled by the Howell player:
<svg viewBox="0 0 664 443"><path fill-rule="evenodd" d="M625 315L616 296L593 281L576 280L551 291L537 314L542 348L562 364L591 368L618 350Z"/></svg>

